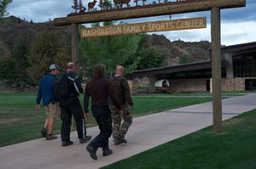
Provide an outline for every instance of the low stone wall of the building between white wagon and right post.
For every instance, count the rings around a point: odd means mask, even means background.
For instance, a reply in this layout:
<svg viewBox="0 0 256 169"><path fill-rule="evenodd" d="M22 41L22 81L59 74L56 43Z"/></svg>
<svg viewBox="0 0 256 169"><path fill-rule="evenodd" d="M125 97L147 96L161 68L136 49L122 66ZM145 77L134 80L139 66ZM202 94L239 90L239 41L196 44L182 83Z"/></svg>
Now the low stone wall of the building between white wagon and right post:
<svg viewBox="0 0 256 169"><path fill-rule="evenodd" d="M177 93L207 91L207 79L170 79L170 90Z"/></svg>

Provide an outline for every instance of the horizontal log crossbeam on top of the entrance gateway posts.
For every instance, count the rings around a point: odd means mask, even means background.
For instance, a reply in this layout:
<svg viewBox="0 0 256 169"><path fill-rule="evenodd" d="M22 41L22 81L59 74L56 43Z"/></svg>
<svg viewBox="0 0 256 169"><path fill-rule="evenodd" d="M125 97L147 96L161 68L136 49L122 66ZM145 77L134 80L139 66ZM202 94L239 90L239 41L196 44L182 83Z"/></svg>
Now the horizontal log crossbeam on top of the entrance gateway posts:
<svg viewBox="0 0 256 169"><path fill-rule="evenodd" d="M85 24L110 20L126 20L165 14L183 14L211 10L212 8L244 7L246 0L195 0L187 3L152 5L150 8L128 8L118 11L104 11L102 13L88 13L65 18L55 18L55 25Z"/></svg>

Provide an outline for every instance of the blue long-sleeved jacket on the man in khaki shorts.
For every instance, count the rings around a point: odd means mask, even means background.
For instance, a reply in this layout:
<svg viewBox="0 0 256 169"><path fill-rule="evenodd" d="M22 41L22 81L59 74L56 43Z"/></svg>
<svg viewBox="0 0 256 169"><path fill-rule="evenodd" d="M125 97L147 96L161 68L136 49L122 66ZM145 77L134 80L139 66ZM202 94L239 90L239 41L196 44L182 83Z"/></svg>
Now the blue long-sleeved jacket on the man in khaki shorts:
<svg viewBox="0 0 256 169"><path fill-rule="evenodd" d="M40 104L41 99L43 99L43 104L48 105L52 101L56 101L56 96L54 93L54 80L55 76L48 74L41 79L39 89L38 89L38 97L37 104Z"/></svg>

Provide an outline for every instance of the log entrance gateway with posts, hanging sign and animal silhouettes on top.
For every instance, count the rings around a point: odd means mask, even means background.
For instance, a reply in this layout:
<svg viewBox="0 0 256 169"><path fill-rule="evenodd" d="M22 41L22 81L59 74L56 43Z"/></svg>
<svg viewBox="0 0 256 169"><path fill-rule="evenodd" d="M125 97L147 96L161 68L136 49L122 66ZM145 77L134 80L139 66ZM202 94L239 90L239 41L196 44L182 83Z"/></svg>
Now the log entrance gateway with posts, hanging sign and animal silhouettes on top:
<svg viewBox="0 0 256 169"><path fill-rule="evenodd" d="M131 6L129 3L131 0L113 0L113 3L117 6L117 8L112 8L111 5L106 2L99 1L100 4L97 4L100 7L100 10L94 8L96 5L96 0L88 3L88 9L83 6L81 1L74 0L73 8L75 12L72 14L68 14L67 17L64 18L55 18L55 25L72 25L72 46L73 46L73 58L74 61L78 59L79 55L79 38L78 38L78 25L85 23L95 23L102 21L111 21L111 20L126 20L126 19L134 19L134 18L143 18L149 16L158 16L165 14L184 14L198 11L207 11L211 10L211 31L212 31L212 123L213 128L216 132L221 132L222 130L222 103L221 103L221 53L220 53L220 45L221 45L221 34L220 34L220 9L222 8L238 8L245 7L246 0L164 0L163 3L158 1L153 1L152 4L145 4L146 0L143 0L143 5L138 4L139 0L135 0L136 6ZM126 5L126 8L124 8ZM79 10L79 12L78 12ZM151 22L153 23L153 22ZM148 22L149 24L149 22ZM167 24L168 25L168 24ZM175 25L175 24L174 24ZM186 25L186 24L184 24ZM205 24L206 25L206 24ZM124 27L127 25L123 25ZM159 29L157 28L159 27ZM163 29L162 29L162 27ZM123 32L120 31L120 34L125 34L129 32L133 32L133 30L143 30L138 32L146 32L145 28L134 26L133 29L129 29L126 27L123 29ZM149 26L148 26L149 27ZM165 29L164 29L165 27ZM160 31L166 30L165 23L160 25L155 25L154 29L150 29L151 31ZM168 26L170 29L172 26ZM174 27L174 26L173 26ZM185 27L185 26L184 26ZM104 28L99 28L104 29ZM174 28L173 28L174 29ZM188 28L191 29L191 28ZM117 29L117 32L119 29ZM131 31L132 30L132 31ZM178 29L177 29L178 30ZM179 29L182 30L182 29ZM110 29L108 29L110 31ZM166 30L167 31L167 30ZM172 30L169 30L172 31ZM99 32L99 33L97 33ZM103 32L103 31L102 31ZM85 37L95 37L97 34L102 36L103 33L101 31L85 31ZM106 30L105 30L106 32ZM135 32L135 31L134 31ZM112 33L116 33L112 30ZM92 35L90 35L92 34ZM108 34L110 35L110 34ZM113 34L114 35L114 34ZM83 35L82 35L83 36Z"/></svg>

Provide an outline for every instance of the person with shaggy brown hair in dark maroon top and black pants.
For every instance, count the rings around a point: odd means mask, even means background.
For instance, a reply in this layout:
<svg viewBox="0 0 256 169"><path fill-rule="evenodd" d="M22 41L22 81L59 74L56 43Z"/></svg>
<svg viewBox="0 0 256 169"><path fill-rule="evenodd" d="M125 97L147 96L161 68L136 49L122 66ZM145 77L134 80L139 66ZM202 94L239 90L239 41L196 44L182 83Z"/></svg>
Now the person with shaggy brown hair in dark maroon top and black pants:
<svg viewBox="0 0 256 169"><path fill-rule="evenodd" d="M87 83L84 92L84 112L89 118L88 104L91 96L91 111L100 128L99 135L94 138L86 149L90 153L90 157L97 160L96 150L101 147L102 155L107 156L113 154L112 149L108 147L108 138L112 134L112 119L109 110L109 97L113 100L113 104L117 110L121 110L117 99L113 97L109 86L108 79L103 78L105 65L97 64L93 70L93 79ZM121 111L120 111L121 112Z"/></svg>

